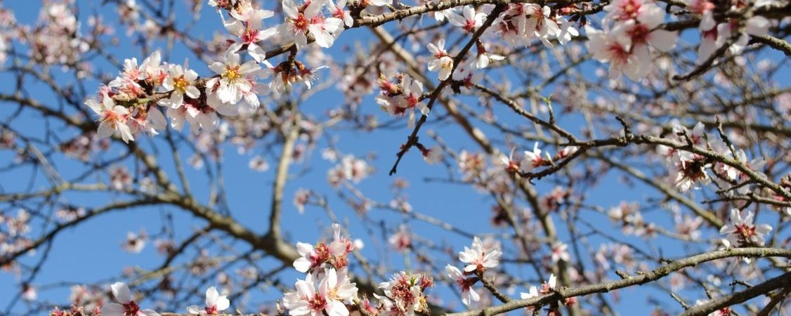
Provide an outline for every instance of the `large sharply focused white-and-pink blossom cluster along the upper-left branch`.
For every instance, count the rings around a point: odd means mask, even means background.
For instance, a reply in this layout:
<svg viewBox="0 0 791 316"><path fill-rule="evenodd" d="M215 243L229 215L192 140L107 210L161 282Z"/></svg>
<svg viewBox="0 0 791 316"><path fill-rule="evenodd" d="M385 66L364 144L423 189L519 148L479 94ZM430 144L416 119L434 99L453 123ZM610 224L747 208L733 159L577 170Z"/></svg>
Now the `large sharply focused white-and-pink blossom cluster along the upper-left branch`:
<svg viewBox="0 0 791 316"><path fill-rule="evenodd" d="M389 2L369 2L373 6ZM199 78L198 73L184 65L161 61L155 51L138 66L136 58L126 59L119 77L107 87L100 88L97 100L85 103L99 116L98 134L109 137L117 134L123 141L134 141L142 132L158 134L170 125L181 130L185 122L191 130L213 131L218 127L218 114L239 114L237 103L255 109L259 96L269 92L284 92L294 83L308 88L316 78L316 70L295 60L293 55L277 66L267 61L265 43L279 36L279 40L293 41L297 50L306 47L308 38L319 47L331 47L343 26L353 23L345 3L305 2L284 0L285 21L277 27L264 28L263 20L274 16L273 11L256 9L249 1L210 1L218 8L225 29L233 36L218 60L209 65L214 75ZM226 17L222 12L228 12ZM252 60L244 62L240 53L246 51ZM273 77L268 83L260 82ZM159 106L164 107L160 109ZM165 111L165 115L163 115Z"/></svg>

